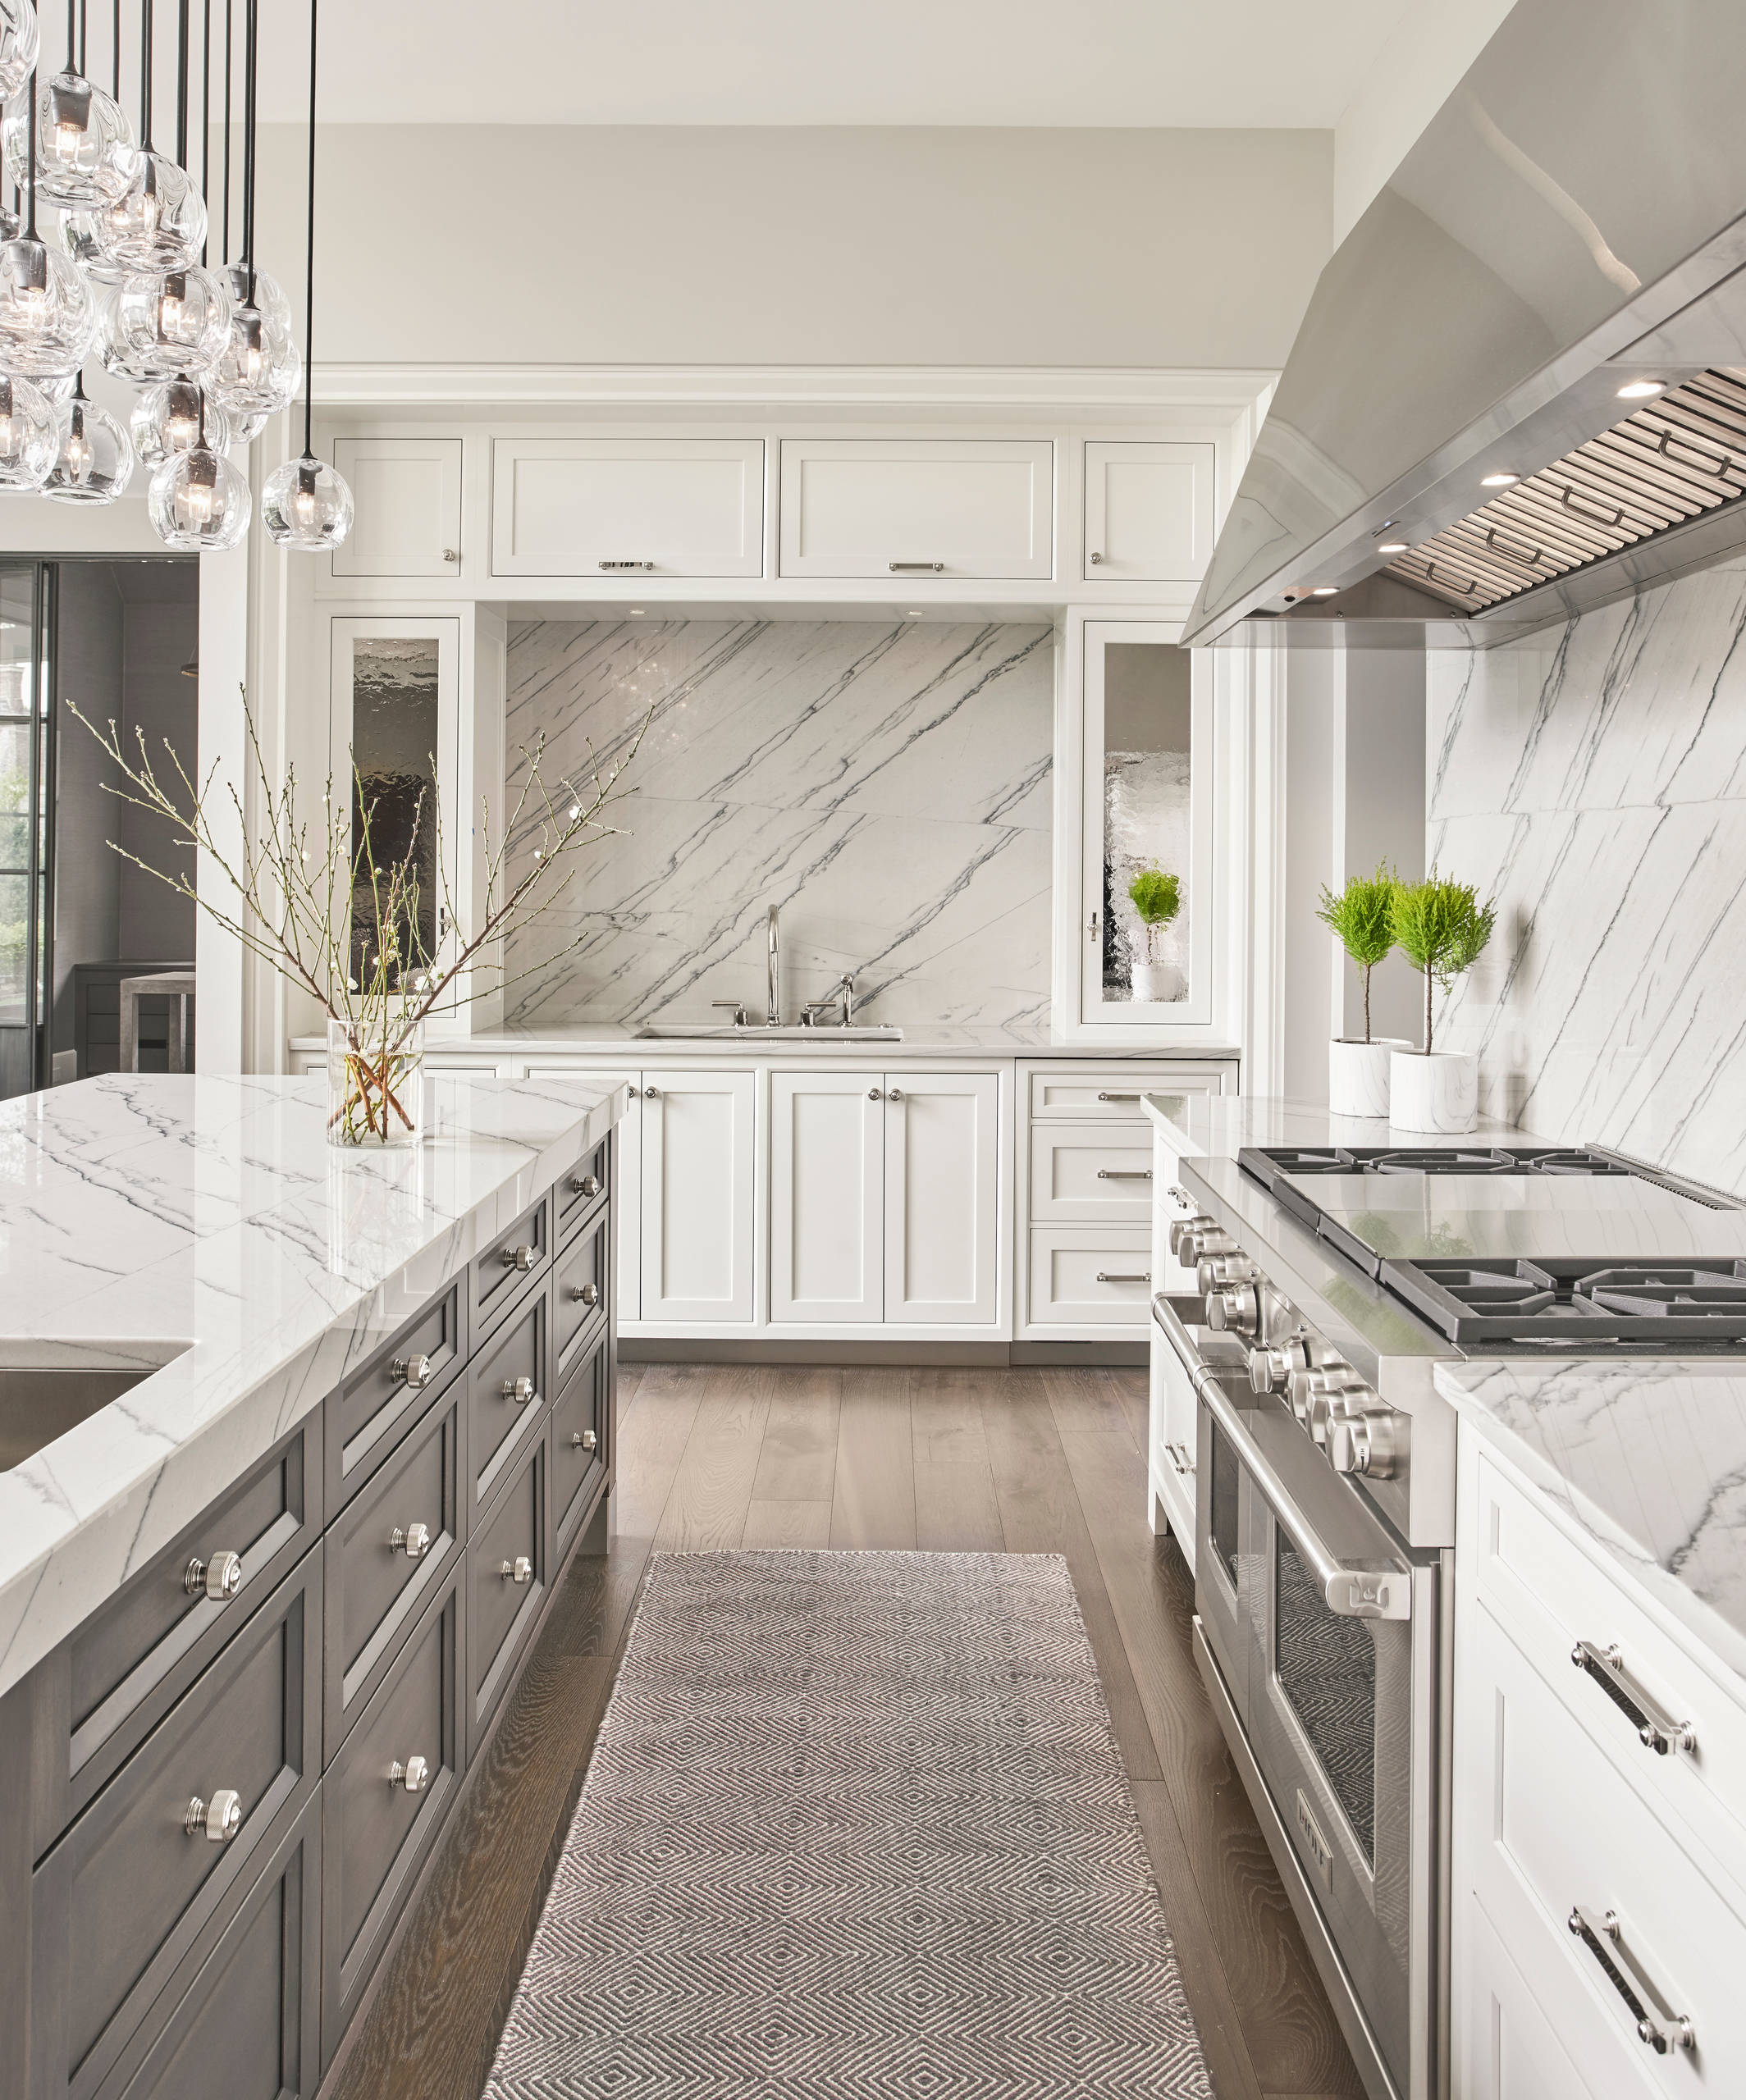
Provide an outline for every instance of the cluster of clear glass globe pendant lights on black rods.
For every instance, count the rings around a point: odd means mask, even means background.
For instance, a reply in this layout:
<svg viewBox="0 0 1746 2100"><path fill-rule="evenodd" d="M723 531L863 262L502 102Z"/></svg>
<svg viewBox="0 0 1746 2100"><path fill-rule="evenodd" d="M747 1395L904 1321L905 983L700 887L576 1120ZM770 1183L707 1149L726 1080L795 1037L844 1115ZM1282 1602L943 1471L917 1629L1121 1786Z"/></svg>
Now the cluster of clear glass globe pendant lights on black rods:
<svg viewBox="0 0 1746 2100"><path fill-rule="evenodd" d="M86 74L88 0L67 0L65 65L38 80L32 0L0 0L0 168L19 191L0 208L0 489L107 504L134 462L147 512L172 548L210 552L248 531L252 496L227 458L303 399L303 458L263 491L279 546L315 552L351 529L351 489L311 449L305 357L279 286L254 262L256 65L261 0L223 0L223 260L208 258L212 10L202 0L200 181L189 162L189 10L176 4L176 151L153 139L153 8L139 21L139 134L122 105L122 6L113 0L111 90ZM170 4L170 0L166 0ZM231 29L244 17L242 252L231 258ZM309 0L309 277L315 321L315 8ZM0 178L0 206L4 178ZM44 237L38 206L59 218ZM139 397L126 428L84 391L86 361Z"/></svg>

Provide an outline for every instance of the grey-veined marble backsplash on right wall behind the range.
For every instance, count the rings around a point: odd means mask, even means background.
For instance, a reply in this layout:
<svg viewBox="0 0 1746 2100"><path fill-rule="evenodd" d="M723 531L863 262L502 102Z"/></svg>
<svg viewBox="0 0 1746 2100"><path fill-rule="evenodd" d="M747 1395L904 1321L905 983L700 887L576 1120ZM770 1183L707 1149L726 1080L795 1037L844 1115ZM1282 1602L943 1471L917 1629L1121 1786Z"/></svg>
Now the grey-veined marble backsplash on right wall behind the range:
<svg viewBox="0 0 1746 2100"><path fill-rule="evenodd" d="M1746 561L1427 655L1427 859L1498 897L1481 1111L1746 1191ZM1393 964L1391 964L1393 968Z"/></svg>

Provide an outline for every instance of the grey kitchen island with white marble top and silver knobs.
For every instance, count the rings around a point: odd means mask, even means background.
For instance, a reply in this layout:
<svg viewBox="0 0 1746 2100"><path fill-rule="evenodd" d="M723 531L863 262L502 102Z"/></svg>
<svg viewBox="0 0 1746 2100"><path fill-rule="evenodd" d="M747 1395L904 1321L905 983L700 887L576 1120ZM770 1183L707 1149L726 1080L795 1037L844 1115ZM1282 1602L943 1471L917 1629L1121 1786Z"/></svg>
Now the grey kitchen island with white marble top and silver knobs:
<svg viewBox="0 0 1746 2100"><path fill-rule="evenodd" d="M605 1550L624 1088L429 1086L0 1109L0 2094L313 2094Z"/></svg>

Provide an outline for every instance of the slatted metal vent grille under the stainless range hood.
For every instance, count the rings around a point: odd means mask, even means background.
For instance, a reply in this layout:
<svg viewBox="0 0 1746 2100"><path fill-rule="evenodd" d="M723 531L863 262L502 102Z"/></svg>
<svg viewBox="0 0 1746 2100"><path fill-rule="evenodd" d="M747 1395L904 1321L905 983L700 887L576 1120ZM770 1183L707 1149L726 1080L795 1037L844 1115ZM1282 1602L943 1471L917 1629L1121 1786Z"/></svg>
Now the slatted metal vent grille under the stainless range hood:
<svg viewBox="0 0 1746 2100"><path fill-rule="evenodd" d="M1746 370L1719 368L1397 554L1389 575L1464 613L1586 569L1746 496Z"/></svg>

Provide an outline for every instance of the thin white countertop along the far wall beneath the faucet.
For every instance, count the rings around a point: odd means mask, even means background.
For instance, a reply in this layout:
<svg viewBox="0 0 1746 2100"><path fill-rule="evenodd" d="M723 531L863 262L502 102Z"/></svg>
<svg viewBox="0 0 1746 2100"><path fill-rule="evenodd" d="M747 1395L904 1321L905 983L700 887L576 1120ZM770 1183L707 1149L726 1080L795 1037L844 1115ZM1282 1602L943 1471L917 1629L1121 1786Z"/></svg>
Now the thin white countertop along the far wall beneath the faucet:
<svg viewBox="0 0 1746 2100"><path fill-rule="evenodd" d="M700 1016L698 1027L708 1029L721 1023L721 1014ZM292 1050L321 1052L326 1040L319 1035L294 1035ZM861 1037L845 1040L836 1029L822 1027L809 1035L777 1035L761 1040L746 1035L639 1035L628 1027L607 1023L582 1023L578 1027L538 1029L490 1029L479 1035L458 1035L454 1040L429 1042L433 1052L450 1056L624 1056L635 1054L639 1065L656 1058L698 1058L698 1056L752 1056L752 1058L794 1058L794 1056L845 1056L857 1065L882 1058L916 1056L1063 1056L1078 1065L1107 1065L1120 1058L1235 1058L1240 1052L1221 1044L1063 1044L1051 1042L1046 1023L1011 1027L948 1027L943 1023L903 1025L901 1042L876 1042ZM1366 1126L1368 1128L1368 1126Z"/></svg>

